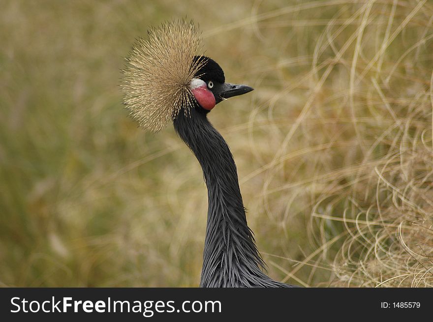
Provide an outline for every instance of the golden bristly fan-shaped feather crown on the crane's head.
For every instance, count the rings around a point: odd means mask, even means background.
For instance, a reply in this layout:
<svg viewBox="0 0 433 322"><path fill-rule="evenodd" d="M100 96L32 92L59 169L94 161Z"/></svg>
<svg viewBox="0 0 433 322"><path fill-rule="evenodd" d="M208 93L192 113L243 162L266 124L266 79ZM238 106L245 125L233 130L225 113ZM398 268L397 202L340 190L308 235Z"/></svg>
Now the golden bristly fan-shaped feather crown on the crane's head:
<svg viewBox="0 0 433 322"><path fill-rule="evenodd" d="M126 57L122 88L130 116L145 130L159 132L182 107L194 103L189 83L206 63L194 59L201 33L193 21L166 22L137 39Z"/></svg>

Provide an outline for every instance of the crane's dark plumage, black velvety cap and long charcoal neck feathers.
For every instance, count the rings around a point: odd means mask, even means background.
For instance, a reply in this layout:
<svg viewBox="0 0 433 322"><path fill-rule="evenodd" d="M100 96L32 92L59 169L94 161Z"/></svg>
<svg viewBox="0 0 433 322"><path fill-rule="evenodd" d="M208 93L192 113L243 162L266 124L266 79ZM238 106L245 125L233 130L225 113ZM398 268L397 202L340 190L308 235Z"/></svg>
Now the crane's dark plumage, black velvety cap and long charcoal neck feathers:
<svg viewBox="0 0 433 322"><path fill-rule="evenodd" d="M212 59L207 60L197 75L205 82L218 85L225 82L222 69ZM227 143L207 119L208 112L196 103L189 115L179 113L173 120L176 132L200 163L208 188L200 286L290 287L262 272L265 264L247 226L236 164Z"/></svg>

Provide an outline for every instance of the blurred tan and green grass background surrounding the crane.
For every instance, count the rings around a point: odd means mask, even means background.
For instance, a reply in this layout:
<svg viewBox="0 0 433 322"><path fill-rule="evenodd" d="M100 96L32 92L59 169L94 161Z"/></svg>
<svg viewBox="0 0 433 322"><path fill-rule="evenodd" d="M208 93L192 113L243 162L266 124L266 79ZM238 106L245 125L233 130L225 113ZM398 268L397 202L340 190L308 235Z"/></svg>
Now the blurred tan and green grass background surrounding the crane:
<svg viewBox="0 0 433 322"><path fill-rule="evenodd" d="M210 119L269 274L430 286L430 1L1 2L1 285L198 286L200 167L172 127L137 128L119 88L135 38L187 17L255 88Z"/></svg>

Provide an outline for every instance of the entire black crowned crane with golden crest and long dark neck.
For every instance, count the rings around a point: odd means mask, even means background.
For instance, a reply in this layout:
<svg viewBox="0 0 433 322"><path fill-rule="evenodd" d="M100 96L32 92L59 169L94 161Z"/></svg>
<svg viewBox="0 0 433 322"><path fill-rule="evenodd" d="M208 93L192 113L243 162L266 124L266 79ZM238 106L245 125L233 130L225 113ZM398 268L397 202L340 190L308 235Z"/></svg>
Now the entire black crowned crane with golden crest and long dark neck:
<svg viewBox="0 0 433 322"><path fill-rule="evenodd" d="M169 120L200 163L208 189L201 287L291 287L263 273L265 264L247 226L236 164L207 114L252 88L225 82L213 60L197 56L192 22L169 22L139 39L126 58L124 103L140 126L158 132Z"/></svg>

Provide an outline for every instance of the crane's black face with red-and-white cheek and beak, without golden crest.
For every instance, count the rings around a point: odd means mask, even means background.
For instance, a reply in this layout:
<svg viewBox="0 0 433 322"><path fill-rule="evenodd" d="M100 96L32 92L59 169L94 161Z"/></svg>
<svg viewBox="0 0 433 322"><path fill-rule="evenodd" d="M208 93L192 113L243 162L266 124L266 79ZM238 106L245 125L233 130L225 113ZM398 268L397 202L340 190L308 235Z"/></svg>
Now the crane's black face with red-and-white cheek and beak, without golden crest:
<svg viewBox="0 0 433 322"><path fill-rule="evenodd" d="M189 83L189 89L199 106L208 112L229 97L253 90L247 85L226 83L222 68L209 57L194 56L194 62L201 67Z"/></svg>

